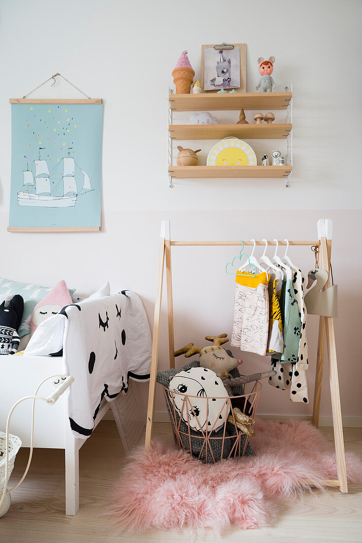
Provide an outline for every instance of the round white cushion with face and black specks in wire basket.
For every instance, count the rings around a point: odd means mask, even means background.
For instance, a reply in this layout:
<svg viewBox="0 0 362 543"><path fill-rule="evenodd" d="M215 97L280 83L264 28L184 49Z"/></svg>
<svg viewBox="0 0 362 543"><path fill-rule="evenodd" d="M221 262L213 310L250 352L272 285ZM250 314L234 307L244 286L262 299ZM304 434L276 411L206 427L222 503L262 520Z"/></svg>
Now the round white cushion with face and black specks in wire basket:
<svg viewBox="0 0 362 543"><path fill-rule="evenodd" d="M220 430L229 414L229 397L226 388L214 371L207 368L190 368L175 375L168 386L177 393L173 395L174 405L182 419L197 432ZM184 402L184 395L190 403ZM197 419L197 420L196 420Z"/></svg>

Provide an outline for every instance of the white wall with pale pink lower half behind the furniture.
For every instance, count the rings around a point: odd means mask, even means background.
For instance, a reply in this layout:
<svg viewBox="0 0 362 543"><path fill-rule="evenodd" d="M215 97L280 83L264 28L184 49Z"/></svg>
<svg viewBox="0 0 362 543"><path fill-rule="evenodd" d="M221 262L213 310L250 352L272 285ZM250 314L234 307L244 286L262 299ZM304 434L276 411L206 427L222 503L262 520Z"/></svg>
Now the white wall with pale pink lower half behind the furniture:
<svg viewBox="0 0 362 543"><path fill-rule="evenodd" d="M362 296L357 282L362 265L358 248L362 81L355 67L362 3L229 0L224 5L223 9L215 0L1 3L0 275L46 285L64 278L84 293L109 279L114 291L132 288L138 292L152 319L161 218L172 219L172 234L178 239L307 239L316 236L317 218L332 217L332 259L340 296L335 324L342 404L346 415L362 415ZM166 94L167 85L172 84L171 71L187 49L199 77L201 45L220 41L247 43L247 91L253 91L259 77L256 59L260 55L276 56L277 90L293 83L294 168L288 190L283 180L249 179L179 181L172 190L168 188ZM102 232L7 233L8 99L22 97L57 71L89 96L104 99ZM57 83L32 96L80 95ZM254 143L261 152L260 142ZM267 144L274 143L280 146L280 141ZM202 146L207 154L209 143ZM230 333L232 284L223 273L229 252L177 251L177 345L197 344L209 333ZM305 271L313 266L309 249L292 254ZM310 343L315 347L316 320L309 320ZM167 364L165 331L164 327L163 367ZM248 371L265 368L256 357L244 359ZM315 353L311 359L315 361ZM313 365L308 376L310 398ZM327 381L324 389L327 392ZM310 405L291 405L268 386L260 403L264 413L307 414L311 409ZM161 399L158 408L163 408ZM329 413L327 394L321 414Z"/></svg>

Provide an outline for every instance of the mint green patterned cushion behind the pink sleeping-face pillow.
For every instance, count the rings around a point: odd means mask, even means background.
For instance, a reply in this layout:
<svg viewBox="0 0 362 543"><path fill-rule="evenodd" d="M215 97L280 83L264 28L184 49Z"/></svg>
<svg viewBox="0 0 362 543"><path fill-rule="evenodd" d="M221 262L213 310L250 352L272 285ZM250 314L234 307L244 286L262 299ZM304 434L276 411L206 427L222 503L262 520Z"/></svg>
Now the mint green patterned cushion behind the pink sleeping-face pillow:
<svg viewBox="0 0 362 543"><path fill-rule="evenodd" d="M34 307L50 290L51 287L41 287L33 285L33 283L17 283L0 277L0 304L3 300L8 301L13 298L15 294L20 294L24 299L24 313L18 330L20 338L30 333L30 320L32 319ZM76 292L75 288L69 290L71 296L74 292Z"/></svg>

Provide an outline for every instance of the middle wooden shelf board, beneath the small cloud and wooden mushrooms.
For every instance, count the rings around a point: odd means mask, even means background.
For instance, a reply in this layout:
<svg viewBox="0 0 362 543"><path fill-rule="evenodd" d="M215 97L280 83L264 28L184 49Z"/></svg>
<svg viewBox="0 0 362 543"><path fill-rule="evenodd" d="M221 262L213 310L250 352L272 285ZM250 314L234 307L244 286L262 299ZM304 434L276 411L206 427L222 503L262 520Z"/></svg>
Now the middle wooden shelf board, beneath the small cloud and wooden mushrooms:
<svg viewBox="0 0 362 543"><path fill-rule="evenodd" d="M172 140L220 140L234 136L247 139L285 138L291 124L170 124Z"/></svg>

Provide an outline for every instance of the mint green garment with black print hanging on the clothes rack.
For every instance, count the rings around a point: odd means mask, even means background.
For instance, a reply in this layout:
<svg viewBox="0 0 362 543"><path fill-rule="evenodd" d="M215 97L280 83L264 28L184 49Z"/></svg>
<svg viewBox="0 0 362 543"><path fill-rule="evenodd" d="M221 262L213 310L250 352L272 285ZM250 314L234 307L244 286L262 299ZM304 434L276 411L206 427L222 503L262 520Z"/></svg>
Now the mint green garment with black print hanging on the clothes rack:
<svg viewBox="0 0 362 543"><path fill-rule="evenodd" d="M297 362L302 321L299 317L294 287L290 279L283 281L282 290L280 292L280 312L282 313L283 319L284 351L282 355L274 355L272 361Z"/></svg>

